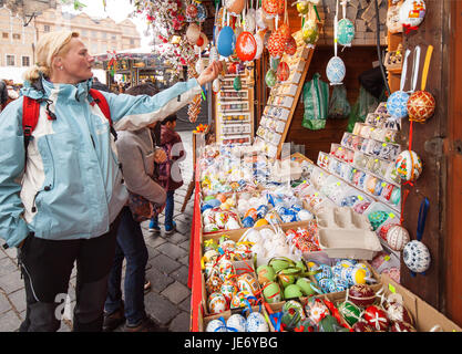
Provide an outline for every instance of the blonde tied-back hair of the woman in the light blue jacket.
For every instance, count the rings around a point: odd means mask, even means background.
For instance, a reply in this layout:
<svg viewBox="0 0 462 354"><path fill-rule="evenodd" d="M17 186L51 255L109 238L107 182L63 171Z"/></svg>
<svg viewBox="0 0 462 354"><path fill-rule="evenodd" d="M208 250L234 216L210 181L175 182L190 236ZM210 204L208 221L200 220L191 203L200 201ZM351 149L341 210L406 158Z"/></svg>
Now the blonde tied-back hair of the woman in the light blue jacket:
<svg viewBox="0 0 462 354"><path fill-rule="evenodd" d="M79 33L72 31L43 34L37 43L37 62L24 73L24 80L32 83L40 77L40 73L44 76L50 76L53 58L57 55L65 55L70 50L69 42L78 37Z"/></svg>

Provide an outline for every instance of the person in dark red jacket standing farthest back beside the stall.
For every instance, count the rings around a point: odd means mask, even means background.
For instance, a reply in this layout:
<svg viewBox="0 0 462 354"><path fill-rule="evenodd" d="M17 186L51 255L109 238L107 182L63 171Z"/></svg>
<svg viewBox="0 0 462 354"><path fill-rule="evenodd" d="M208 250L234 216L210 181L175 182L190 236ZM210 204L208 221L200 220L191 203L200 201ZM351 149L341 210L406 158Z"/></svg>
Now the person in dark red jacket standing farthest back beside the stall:
<svg viewBox="0 0 462 354"><path fill-rule="evenodd" d="M158 165L157 181L165 188L167 198L165 201L165 235L171 235L176 230L176 223L173 220L174 211L174 195L175 189L183 186L182 171L178 163L185 159L185 150L183 147L182 138L178 133L175 132L176 115L170 115L162 121L161 126L161 147L167 155L167 160ZM155 216L151 219L150 231L160 233L158 217Z"/></svg>

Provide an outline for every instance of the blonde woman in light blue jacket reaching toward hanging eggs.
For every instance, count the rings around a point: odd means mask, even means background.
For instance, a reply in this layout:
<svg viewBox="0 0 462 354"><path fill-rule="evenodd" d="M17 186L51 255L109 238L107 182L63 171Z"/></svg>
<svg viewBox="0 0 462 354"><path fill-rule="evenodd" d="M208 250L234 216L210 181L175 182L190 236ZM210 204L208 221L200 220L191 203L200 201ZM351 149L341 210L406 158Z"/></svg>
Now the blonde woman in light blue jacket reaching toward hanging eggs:
<svg viewBox="0 0 462 354"><path fill-rule="evenodd" d="M119 215L127 200L107 118L89 94L93 58L79 34L51 32L37 45L21 97L0 116L0 237L17 247L27 314L20 331L57 331L76 261L74 331L101 331ZM115 129L162 121L201 93L220 63L155 96L103 93ZM23 96L40 102L29 144Z"/></svg>

